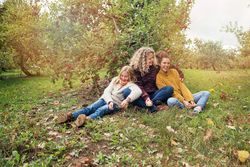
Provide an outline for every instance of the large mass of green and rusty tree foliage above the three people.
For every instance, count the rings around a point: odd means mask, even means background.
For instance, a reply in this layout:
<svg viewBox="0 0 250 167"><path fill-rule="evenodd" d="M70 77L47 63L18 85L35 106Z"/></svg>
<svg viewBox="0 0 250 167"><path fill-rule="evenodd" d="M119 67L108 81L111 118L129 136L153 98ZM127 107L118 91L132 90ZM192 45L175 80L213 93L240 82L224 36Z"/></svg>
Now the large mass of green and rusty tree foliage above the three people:
<svg viewBox="0 0 250 167"><path fill-rule="evenodd" d="M96 81L98 70L113 76L141 46L168 48L178 59L191 6L186 0L7 0L1 36L26 75Z"/></svg>

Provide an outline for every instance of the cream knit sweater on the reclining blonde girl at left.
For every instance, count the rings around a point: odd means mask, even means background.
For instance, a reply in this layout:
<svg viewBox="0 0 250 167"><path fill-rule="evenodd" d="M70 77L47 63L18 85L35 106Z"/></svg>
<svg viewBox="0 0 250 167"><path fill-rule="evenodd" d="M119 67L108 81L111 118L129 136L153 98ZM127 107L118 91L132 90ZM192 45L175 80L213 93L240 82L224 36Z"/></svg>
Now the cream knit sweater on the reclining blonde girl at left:
<svg viewBox="0 0 250 167"><path fill-rule="evenodd" d="M116 77L112 79L109 86L104 90L104 93L101 96L101 98L104 99L106 103L113 102L121 107L121 102L125 99L122 92L126 88L131 90L131 93L128 95L128 97L131 99L131 102L141 96L141 89L133 82L128 82L126 85L120 87L119 84L115 83L115 80Z"/></svg>

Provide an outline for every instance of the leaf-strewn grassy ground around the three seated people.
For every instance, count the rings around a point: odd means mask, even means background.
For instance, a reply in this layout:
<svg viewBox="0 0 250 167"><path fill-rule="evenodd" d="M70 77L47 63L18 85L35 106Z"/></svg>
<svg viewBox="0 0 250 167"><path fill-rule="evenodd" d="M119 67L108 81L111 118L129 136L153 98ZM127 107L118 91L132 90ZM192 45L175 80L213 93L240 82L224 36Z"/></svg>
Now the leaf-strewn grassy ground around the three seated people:
<svg viewBox="0 0 250 167"><path fill-rule="evenodd" d="M0 80L0 166L250 166L237 157L250 151L250 71L184 73L193 93L211 91L198 116L130 108L79 129L53 120L97 99L90 90L11 74Z"/></svg>

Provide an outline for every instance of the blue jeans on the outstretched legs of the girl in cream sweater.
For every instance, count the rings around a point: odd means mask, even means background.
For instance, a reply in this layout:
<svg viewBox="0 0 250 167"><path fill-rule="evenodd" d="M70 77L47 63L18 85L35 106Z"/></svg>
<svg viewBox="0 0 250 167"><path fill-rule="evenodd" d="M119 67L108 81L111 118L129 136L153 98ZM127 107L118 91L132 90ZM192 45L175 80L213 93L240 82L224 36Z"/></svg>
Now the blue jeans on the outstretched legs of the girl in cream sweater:
<svg viewBox="0 0 250 167"><path fill-rule="evenodd" d="M73 112L72 116L74 119L76 119L80 114L84 114L91 119L97 119L116 111L119 111L119 107L117 106L117 104L114 104L113 110L110 110L108 104L103 99L99 99L86 108Z"/></svg>

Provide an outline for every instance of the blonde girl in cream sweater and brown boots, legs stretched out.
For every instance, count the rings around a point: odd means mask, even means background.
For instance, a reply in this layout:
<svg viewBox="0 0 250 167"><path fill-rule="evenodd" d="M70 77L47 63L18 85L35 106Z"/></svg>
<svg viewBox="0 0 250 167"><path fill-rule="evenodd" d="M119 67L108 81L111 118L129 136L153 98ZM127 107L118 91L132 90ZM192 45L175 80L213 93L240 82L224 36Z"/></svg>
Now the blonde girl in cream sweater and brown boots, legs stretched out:
<svg viewBox="0 0 250 167"><path fill-rule="evenodd" d="M74 119L74 125L79 127L88 119L101 118L104 115L126 108L130 102L140 97L142 93L140 88L134 84L133 81L134 75L132 68L130 66L124 66L119 75L112 79L99 100L86 108L73 113L70 112L60 115L57 123L64 123ZM126 98L123 96L123 91L125 89L130 90Z"/></svg>

